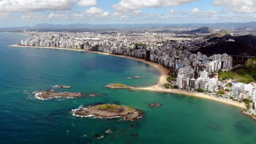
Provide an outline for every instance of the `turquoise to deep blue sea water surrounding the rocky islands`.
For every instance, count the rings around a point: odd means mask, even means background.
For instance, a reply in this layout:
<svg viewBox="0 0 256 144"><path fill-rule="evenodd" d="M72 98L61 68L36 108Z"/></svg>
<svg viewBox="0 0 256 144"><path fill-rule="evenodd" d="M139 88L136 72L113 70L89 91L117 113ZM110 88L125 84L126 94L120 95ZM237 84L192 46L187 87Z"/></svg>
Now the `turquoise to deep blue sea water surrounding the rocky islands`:
<svg viewBox="0 0 256 144"><path fill-rule="evenodd" d="M256 121L241 108L192 96L111 90L110 83L149 86L157 69L139 61L69 50L20 48L29 36L0 33L0 143L256 143ZM140 79L127 79L141 76ZM57 91L99 93L101 97L37 100L32 92L70 85ZM160 102L162 107L149 108ZM71 116L70 110L115 103L141 109L139 121ZM103 139L95 134L112 129ZM203 136L203 138L200 138Z"/></svg>

